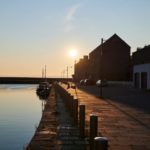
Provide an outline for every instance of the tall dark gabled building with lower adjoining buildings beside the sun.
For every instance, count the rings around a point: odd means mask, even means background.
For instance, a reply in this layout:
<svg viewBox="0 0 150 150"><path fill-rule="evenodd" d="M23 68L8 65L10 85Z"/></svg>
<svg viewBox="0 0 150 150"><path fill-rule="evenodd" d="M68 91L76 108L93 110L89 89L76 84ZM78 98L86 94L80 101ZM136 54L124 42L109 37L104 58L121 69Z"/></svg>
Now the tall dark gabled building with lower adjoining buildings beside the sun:
<svg viewBox="0 0 150 150"><path fill-rule="evenodd" d="M78 80L85 77L95 81L101 78L114 81L130 79L130 46L117 34L95 48L84 61L86 63L82 62L80 60L75 67Z"/></svg>

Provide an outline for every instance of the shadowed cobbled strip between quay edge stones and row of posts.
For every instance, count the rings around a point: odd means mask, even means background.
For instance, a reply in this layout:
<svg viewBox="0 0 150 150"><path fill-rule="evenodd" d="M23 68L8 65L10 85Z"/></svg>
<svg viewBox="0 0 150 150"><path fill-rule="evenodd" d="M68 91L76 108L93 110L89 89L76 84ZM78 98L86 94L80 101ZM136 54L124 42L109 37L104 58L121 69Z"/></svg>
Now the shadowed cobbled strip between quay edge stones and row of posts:
<svg viewBox="0 0 150 150"><path fill-rule="evenodd" d="M62 99L57 97L58 131L57 145L60 150L86 150L88 149L87 139L79 137L79 129L73 123L72 117L66 110Z"/></svg>

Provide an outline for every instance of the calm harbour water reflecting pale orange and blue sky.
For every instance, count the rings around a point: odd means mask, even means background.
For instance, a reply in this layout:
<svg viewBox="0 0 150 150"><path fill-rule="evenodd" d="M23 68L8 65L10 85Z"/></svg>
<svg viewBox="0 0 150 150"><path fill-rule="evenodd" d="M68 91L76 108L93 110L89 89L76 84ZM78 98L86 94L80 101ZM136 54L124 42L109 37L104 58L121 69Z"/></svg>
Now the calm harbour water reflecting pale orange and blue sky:
<svg viewBox="0 0 150 150"><path fill-rule="evenodd" d="M41 118L37 85L0 85L0 150L21 150Z"/></svg>

